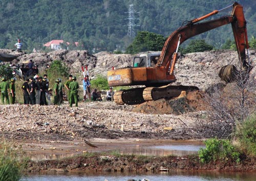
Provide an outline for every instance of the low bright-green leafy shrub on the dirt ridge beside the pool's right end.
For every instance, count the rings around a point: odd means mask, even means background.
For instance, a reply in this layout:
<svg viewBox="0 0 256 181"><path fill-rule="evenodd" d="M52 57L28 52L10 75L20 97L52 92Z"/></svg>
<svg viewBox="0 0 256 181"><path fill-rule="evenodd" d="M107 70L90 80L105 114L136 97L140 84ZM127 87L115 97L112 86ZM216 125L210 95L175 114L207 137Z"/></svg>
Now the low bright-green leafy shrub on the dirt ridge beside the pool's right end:
<svg viewBox="0 0 256 181"><path fill-rule="evenodd" d="M240 162L240 153L228 140L218 140L216 138L206 140L205 148L198 151L199 159L202 163L208 163L216 160L231 159L236 163Z"/></svg>

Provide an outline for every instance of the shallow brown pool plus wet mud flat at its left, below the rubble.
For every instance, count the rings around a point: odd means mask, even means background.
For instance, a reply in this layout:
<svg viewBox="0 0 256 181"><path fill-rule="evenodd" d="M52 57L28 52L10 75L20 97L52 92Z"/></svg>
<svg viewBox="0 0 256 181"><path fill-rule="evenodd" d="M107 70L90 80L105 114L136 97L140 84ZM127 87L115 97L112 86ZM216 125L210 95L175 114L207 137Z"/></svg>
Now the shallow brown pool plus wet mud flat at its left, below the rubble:
<svg viewBox="0 0 256 181"><path fill-rule="evenodd" d="M97 146L97 148L90 147L83 141L28 143L23 148L31 160L39 161L62 159L63 157L79 155L85 152L119 152L120 154L150 156L173 154L184 156L197 153L201 147L204 147L204 144L200 141L94 139L89 142Z"/></svg>

